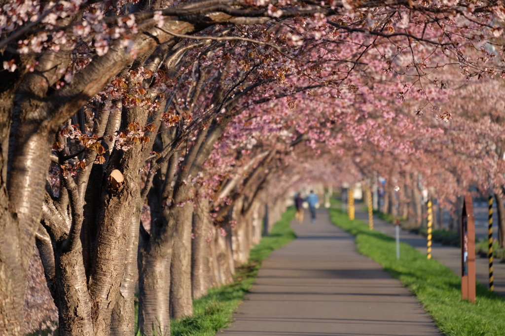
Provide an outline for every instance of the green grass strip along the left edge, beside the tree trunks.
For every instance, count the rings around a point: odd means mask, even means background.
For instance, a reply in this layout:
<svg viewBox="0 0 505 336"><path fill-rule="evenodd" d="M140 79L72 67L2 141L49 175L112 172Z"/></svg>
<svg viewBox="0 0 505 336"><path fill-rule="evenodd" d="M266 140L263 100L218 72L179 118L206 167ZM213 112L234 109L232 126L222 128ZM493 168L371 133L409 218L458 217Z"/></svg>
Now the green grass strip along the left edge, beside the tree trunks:
<svg viewBox="0 0 505 336"><path fill-rule="evenodd" d="M296 235L289 223L294 218L294 208L289 208L275 223L270 235L263 237L250 252L249 263L235 270L235 282L209 290L209 294L193 302L194 315L171 321L172 336L215 335L232 321L232 313L242 302L254 282L261 262L270 253L293 239Z"/></svg>

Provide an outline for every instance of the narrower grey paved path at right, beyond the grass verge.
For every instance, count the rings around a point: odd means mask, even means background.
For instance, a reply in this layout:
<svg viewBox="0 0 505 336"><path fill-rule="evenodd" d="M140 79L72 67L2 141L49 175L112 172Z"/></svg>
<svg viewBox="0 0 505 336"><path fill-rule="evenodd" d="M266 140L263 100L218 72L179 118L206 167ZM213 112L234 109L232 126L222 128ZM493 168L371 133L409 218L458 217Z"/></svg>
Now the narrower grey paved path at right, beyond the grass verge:
<svg viewBox="0 0 505 336"><path fill-rule="evenodd" d="M358 210L356 218L368 222L368 212ZM394 225L374 216L374 230L391 237L395 236ZM415 247L418 251L426 253L426 238L400 230L400 241ZM461 275L461 249L453 246L443 246L433 243L431 254L453 272ZM488 259L475 256L475 277L482 285L489 286L489 266ZM505 263L499 260L493 262L494 291L505 297Z"/></svg>

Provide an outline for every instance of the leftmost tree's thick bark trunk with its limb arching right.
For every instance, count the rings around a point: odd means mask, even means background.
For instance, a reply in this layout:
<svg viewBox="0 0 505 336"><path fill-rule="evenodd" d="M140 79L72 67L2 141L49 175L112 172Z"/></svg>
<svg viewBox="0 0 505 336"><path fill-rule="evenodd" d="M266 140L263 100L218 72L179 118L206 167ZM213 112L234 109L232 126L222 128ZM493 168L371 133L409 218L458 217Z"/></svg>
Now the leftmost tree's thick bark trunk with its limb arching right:
<svg viewBox="0 0 505 336"><path fill-rule="evenodd" d="M230 20L229 15L222 13L211 16L219 17L218 21ZM168 20L164 27L185 34L207 26L197 21ZM146 33L141 32L132 38L136 54L145 54L156 45L173 39L172 35L155 26L156 23L143 26ZM35 243L41 216L41 207L37 204L41 205L44 199L54 135L60 125L132 62L134 55L125 53L115 44L112 43L107 54L75 74L72 83L60 90L49 88L68 67L70 53L64 48L60 52L46 51L37 59L34 72L16 72L7 83L12 89L2 89L0 99L7 102L2 104L0 111L0 231L6 239L0 241L0 331L3 333L22 333L19 316L23 316L24 286L18 284L25 282ZM9 79L9 76L4 78ZM4 244L7 241L8 244Z"/></svg>

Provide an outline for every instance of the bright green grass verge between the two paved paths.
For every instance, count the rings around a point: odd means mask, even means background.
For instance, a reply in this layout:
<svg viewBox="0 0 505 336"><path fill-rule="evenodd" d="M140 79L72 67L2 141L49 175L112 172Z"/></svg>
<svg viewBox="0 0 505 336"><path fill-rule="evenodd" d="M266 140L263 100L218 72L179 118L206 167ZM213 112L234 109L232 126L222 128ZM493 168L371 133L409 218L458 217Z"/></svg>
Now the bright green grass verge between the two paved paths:
<svg viewBox="0 0 505 336"><path fill-rule="evenodd" d="M361 220L349 220L339 209L330 209L337 226L356 236L360 253L382 265L409 288L447 336L502 335L505 330L505 301L477 284L475 304L461 300L461 279L437 260L401 243L396 260L393 238L370 231Z"/></svg>

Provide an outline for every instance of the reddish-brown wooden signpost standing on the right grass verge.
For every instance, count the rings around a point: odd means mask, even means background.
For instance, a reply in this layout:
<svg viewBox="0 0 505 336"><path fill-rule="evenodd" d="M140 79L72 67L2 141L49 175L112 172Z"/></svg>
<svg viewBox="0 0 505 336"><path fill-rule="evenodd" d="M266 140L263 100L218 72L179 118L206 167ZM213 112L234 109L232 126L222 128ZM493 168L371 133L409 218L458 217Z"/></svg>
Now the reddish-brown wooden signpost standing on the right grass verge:
<svg viewBox="0 0 505 336"><path fill-rule="evenodd" d="M471 196L465 196L461 216L461 298L475 303L475 217Z"/></svg>

